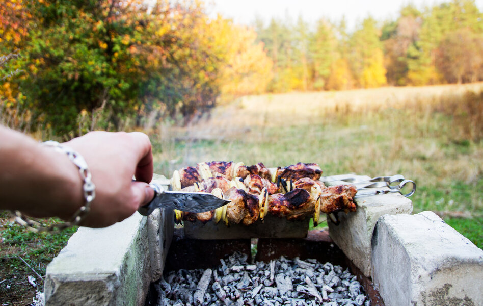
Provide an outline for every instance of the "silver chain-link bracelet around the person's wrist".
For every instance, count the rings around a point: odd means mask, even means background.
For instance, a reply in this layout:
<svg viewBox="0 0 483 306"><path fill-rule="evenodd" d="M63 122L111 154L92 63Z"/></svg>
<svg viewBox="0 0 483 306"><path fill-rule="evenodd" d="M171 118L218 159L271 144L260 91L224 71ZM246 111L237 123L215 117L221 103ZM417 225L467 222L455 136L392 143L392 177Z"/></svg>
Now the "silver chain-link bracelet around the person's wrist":
<svg viewBox="0 0 483 306"><path fill-rule="evenodd" d="M79 168L79 173L81 173L81 178L83 180L83 190L84 190L84 200L85 204L79 208L70 220L64 223L58 223L53 225L42 225L41 223L34 221L19 211L15 211L15 220L29 228L33 232L50 232L56 233L65 230L68 227L78 225L86 218L90 211L91 202L96 196L96 186L91 181L91 172L87 167L87 163L84 158L74 151L71 147L60 144L57 141L45 141L42 145L53 147L56 151L67 154L67 157Z"/></svg>

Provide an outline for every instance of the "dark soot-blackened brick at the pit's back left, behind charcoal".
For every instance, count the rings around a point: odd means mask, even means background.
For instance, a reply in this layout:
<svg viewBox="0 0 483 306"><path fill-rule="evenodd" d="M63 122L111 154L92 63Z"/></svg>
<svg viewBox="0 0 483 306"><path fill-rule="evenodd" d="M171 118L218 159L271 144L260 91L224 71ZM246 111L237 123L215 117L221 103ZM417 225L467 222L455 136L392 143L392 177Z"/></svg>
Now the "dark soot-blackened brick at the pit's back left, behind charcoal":
<svg viewBox="0 0 483 306"><path fill-rule="evenodd" d="M185 238L183 229L174 231L163 274L179 269L207 269L220 265L220 259L235 251L248 255L250 239L199 240Z"/></svg>

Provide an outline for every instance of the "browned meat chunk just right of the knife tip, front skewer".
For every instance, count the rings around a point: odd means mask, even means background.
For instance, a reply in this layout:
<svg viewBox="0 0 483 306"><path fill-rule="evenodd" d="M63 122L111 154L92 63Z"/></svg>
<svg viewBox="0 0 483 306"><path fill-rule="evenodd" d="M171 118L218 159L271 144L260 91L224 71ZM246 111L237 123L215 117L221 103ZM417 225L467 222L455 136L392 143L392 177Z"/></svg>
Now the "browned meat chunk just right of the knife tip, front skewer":
<svg viewBox="0 0 483 306"><path fill-rule="evenodd" d="M231 200L226 210L226 217L230 223L242 222L244 225L250 225L258 220L258 196L232 187L225 194L225 198Z"/></svg>

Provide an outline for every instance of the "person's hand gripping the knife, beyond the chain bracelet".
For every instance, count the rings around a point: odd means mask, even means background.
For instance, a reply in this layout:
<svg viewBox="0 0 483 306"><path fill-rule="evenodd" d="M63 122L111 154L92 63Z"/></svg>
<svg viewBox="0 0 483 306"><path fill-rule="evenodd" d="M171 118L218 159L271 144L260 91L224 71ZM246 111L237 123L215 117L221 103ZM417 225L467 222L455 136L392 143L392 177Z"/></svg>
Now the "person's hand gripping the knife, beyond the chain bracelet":
<svg viewBox="0 0 483 306"><path fill-rule="evenodd" d="M154 197L147 184L153 175L153 158L146 134L90 132L65 145L84 157L96 185L91 210L81 225L109 226L131 216Z"/></svg>

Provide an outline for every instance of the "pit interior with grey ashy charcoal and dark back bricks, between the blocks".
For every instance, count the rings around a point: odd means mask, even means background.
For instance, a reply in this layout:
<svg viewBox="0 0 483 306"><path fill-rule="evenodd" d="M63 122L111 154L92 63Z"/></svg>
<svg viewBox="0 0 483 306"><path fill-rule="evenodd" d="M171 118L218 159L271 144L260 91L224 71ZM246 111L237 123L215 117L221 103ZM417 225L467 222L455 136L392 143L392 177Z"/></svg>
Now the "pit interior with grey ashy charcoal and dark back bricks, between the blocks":
<svg viewBox="0 0 483 306"><path fill-rule="evenodd" d="M257 244L254 262L253 243ZM234 253L224 256L230 252ZM368 288L372 296L367 296L363 285L370 286L370 281L347 261L327 231L309 231L304 239L250 241L196 240L177 230L164 277L151 285L146 305L311 306L325 302L336 306L370 305L370 300L372 305L383 305L377 292Z"/></svg>

